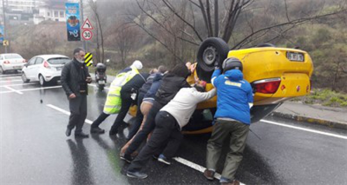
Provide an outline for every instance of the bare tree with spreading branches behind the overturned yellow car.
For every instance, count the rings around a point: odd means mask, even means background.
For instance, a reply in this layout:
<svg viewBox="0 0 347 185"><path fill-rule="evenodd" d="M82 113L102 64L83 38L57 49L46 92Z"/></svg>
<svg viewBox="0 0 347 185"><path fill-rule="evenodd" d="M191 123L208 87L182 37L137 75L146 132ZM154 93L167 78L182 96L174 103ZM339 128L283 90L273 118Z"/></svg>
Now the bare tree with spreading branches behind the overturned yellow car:
<svg viewBox="0 0 347 185"><path fill-rule="evenodd" d="M290 29L308 21L346 13L346 4L344 3L336 4L332 6L333 8L330 7L330 11L327 11L325 9L324 0L319 0L320 3L316 1L311 3L306 2L305 5L301 6L306 9L300 10L300 12L304 13L296 14L295 16L288 13L291 7L289 7L287 1L223 0L220 1L223 2L221 4L217 1L218 0L215 0L215 2L212 3L211 0L189 0L186 6L191 6L191 8L182 8L186 0L136 0L136 4L142 11L142 14L140 16L130 16L130 18L135 20L138 26L166 48L168 48L167 44L156 37L156 34L149 29L149 19L153 22L155 27L165 30L168 35L184 42L199 45L206 37L218 36L223 38L226 42L229 42L232 38L233 42L231 48L238 49L260 38L266 42L284 37L284 34ZM266 4L266 6L262 4ZM318 5L313 6L314 4ZM275 14L277 13L276 16L267 17L269 21L261 21L261 24L258 23L257 26L248 24L250 21L257 19L254 14L255 12L259 12L259 9L263 9L264 14L267 14L266 10L269 10L271 7L278 8L274 11ZM188 9L190 9L190 12L187 12ZM211 14L213 10L215 10L214 15ZM165 26L167 23L165 17L168 17L167 15L170 15L171 20L177 18L185 25L185 29L179 30L179 32L185 35L184 37L173 33L172 30ZM214 18L212 18L212 16L214 16ZM198 20L200 17L202 18L204 27L196 24L197 21L200 21ZM214 32L213 25L215 25ZM241 33L242 37L240 37L239 31L235 33L236 27L243 27L244 29L242 30L246 29L247 31L243 31L243 33ZM238 38L234 38L233 35L236 35ZM266 40L264 39L265 36L267 38Z"/></svg>

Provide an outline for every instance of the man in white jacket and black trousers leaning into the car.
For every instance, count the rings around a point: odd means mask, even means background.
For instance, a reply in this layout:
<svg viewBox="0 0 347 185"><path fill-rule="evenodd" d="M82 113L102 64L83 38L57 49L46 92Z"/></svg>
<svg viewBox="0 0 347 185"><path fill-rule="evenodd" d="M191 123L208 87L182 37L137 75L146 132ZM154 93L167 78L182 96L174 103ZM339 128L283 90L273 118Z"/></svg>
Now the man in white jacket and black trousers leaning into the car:
<svg viewBox="0 0 347 185"><path fill-rule="evenodd" d="M156 127L151 138L143 147L139 155L131 162L126 175L128 177L145 179L147 174L141 172L153 154L167 144L160 158L161 162L170 164L167 160L172 158L181 141L181 128L185 126L196 109L199 102L206 101L216 95L216 90L203 92L206 82L200 82L191 88L182 88L166 106L157 114Z"/></svg>

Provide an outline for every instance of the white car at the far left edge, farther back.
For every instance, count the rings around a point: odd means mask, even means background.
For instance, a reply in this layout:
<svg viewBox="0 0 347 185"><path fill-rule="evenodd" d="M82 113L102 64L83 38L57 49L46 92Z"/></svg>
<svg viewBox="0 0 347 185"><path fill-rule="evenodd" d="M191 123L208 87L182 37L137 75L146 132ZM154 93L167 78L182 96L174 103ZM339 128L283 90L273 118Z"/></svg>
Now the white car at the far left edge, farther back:
<svg viewBox="0 0 347 185"><path fill-rule="evenodd" d="M22 56L10 53L10 54L1 54L0 55L0 74L5 74L7 71L21 70L23 65L26 63L26 60Z"/></svg>

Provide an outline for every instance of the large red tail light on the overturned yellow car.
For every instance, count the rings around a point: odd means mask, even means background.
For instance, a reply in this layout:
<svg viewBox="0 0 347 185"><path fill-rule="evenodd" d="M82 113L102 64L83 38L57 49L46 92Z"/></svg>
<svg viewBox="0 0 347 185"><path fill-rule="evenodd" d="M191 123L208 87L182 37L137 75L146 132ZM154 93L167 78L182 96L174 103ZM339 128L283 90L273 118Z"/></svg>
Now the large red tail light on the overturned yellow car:
<svg viewBox="0 0 347 185"><path fill-rule="evenodd" d="M264 94L274 94L281 84L281 78L259 80L253 82L253 84L255 87L255 92Z"/></svg>

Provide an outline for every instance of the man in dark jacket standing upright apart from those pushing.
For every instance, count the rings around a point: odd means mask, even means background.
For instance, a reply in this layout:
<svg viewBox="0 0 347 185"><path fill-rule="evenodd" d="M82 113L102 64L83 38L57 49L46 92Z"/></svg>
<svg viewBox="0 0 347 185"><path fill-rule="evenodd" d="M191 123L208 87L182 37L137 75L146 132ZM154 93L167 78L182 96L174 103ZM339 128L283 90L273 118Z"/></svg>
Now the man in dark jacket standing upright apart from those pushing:
<svg viewBox="0 0 347 185"><path fill-rule="evenodd" d="M87 117L88 83L92 82L88 68L84 65L85 51L77 48L73 51L73 60L67 62L61 71L61 85L69 101L70 118L65 131L70 136L75 129L76 137L88 137L82 132Z"/></svg>

